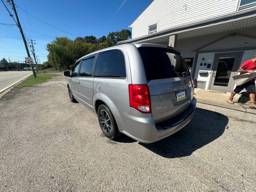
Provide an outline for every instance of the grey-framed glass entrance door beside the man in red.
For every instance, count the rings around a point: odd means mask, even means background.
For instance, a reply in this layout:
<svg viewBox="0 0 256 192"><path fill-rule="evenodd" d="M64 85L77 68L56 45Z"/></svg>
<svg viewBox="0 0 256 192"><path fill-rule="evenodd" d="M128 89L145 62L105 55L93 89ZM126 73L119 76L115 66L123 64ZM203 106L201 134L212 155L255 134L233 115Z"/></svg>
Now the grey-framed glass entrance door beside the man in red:
<svg viewBox="0 0 256 192"><path fill-rule="evenodd" d="M210 89L229 92L234 81L232 76L237 71L240 54L217 55L214 63L213 77Z"/></svg>

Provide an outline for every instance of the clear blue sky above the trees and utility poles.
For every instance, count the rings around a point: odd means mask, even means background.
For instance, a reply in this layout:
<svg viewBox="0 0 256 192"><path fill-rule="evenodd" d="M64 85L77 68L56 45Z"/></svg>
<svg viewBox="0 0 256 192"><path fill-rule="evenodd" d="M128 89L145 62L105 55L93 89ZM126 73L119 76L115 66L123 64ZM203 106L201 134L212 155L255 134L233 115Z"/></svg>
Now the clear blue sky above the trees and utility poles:
<svg viewBox="0 0 256 192"><path fill-rule="evenodd" d="M3 0L14 15L10 4ZM14 0L14 3L42 21L70 34L85 37L94 35L99 38L109 32L130 29L128 26L149 5L152 0ZM134 6L136 5L136 6ZM52 37L76 37L55 29L35 19L16 7L26 39L36 40L35 54L40 62L47 61L45 46L54 40ZM0 1L0 23L14 24L3 3ZM27 30L25 30L27 29ZM30 30L30 31L28 31ZM37 33L51 37L43 36ZM31 54L32 55L32 54ZM17 26L0 25L0 60L24 61L27 57L24 43Z"/></svg>

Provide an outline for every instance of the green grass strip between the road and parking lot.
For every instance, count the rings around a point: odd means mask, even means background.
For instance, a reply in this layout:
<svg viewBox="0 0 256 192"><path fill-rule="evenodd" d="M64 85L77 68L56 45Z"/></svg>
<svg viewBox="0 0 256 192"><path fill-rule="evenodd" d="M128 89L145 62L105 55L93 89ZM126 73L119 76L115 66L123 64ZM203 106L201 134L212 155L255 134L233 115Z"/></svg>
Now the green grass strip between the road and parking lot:
<svg viewBox="0 0 256 192"><path fill-rule="evenodd" d="M57 74L37 74L37 77L34 78L33 74L26 78L21 83L15 85L14 87L30 87L33 85L37 85L38 83L45 83L48 79L59 76Z"/></svg>

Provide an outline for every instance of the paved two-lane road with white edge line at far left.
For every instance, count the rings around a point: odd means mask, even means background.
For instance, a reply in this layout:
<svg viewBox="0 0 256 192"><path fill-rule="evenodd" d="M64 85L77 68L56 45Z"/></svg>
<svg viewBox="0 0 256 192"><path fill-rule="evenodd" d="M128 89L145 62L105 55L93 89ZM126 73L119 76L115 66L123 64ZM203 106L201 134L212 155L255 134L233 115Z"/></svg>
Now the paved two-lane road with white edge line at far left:
<svg viewBox="0 0 256 192"><path fill-rule="evenodd" d="M31 71L3 71L0 72L0 90L32 74Z"/></svg>

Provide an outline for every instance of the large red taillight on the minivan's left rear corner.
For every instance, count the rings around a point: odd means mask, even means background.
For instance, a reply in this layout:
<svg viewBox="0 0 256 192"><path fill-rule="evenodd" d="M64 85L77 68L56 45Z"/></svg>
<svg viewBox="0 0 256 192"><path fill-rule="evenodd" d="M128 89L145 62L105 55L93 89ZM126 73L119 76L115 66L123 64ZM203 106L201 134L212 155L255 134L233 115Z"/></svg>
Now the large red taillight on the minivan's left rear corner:
<svg viewBox="0 0 256 192"><path fill-rule="evenodd" d="M142 113L151 113L149 86L129 84L130 107Z"/></svg>

